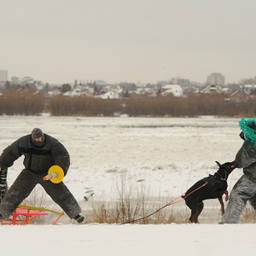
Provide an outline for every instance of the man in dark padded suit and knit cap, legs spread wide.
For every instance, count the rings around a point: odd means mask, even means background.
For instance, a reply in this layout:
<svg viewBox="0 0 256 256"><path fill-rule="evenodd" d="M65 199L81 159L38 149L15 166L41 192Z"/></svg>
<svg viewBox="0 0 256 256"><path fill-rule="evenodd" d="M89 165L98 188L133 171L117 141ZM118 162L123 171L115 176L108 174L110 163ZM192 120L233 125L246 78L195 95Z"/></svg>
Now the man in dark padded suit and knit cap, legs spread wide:
<svg viewBox="0 0 256 256"><path fill-rule="evenodd" d="M32 134L20 137L15 143L3 150L0 156L0 167L13 166L15 160L24 155L25 169L20 172L15 183L9 188L0 204L0 217L9 218L20 203L26 199L37 184L57 203L69 218L81 223L84 217L80 215L81 208L64 183L45 182L43 177L48 174L51 166L61 166L64 175L70 166L67 149L54 137L34 128ZM1 216L2 215L2 216Z"/></svg>

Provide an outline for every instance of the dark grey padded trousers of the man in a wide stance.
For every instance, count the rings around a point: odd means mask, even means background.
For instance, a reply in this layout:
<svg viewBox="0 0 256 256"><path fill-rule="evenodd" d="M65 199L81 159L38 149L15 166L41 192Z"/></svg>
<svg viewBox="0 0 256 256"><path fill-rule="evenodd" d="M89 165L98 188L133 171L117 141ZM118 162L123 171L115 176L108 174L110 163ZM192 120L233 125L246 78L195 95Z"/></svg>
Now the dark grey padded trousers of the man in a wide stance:
<svg viewBox="0 0 256 256"><path fill-rule="evenodd" d="M0 204L0 213L3 218L9 218L20 203L31 194L32 189L37 184L44 188L46 193L67 213L69 218L74 218L82 212L79 203L64 183L51 183L44 181L43 177L43 174L35 174L27 169L20 172Z"/></svg>

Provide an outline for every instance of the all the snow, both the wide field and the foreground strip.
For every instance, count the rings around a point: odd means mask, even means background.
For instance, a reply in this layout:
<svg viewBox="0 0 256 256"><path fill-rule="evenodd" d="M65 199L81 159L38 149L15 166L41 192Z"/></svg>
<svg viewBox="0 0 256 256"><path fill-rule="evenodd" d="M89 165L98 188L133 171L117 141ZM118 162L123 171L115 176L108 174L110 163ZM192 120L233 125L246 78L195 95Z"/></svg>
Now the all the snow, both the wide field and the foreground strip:
<svg viewBox="0 0 256 256"><path fill-rule="evenodd" d="M234 160L241 147L239 119L0 117L0 150L16 139L41 128L56 137L70 153L64 183L86 212L84 195L94 200L116 198L119 177L144 183L164 204L182 195L197 180ZM13 183L22 159L9 168ZM241 177L236 169L229 190ZM184 207L184 202L177 207ZM214 203L209 202L208 207ZM219 207L218 207L219 208ZM206 210L207 211L207 210ZM254 255L253 224L107 225L60 224L1 226L1 255Z"/></svg>

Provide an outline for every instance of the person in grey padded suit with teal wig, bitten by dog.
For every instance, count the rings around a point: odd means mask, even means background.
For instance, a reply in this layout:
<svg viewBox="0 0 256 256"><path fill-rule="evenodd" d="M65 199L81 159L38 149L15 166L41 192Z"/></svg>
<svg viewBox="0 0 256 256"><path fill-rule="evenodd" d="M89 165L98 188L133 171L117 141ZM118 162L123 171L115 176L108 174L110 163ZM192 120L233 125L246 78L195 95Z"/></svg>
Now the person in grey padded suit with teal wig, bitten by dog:
<svg viewBox="0 0 256 256"><path fill-rule="evenodd" d="M235 166L243 168L244 174L231 190L220 224L238 224L247 201L256 211L256 119L243 118L239 125L244 143L236 154Z"/></svg>

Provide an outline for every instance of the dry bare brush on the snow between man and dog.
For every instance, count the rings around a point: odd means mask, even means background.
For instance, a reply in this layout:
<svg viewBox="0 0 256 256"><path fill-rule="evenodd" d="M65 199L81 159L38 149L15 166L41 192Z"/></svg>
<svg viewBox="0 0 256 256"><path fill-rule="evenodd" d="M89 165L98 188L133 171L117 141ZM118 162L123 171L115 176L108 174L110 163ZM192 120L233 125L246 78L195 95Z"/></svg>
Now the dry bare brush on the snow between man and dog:
<svg viewBox="0 0 256 256"><path fill-rule="evenodd" d="M91 210L88 210L86 223L181 224L186 222L185 213L172 206L158 211L164 205L160 197L152 196L149 187L141 182L132 182L126 174L118 177L114 187L117 200L113 201L102 195L97 201L95 199L90 201ZM153 212L155 214L152 214ZM148 215L151 216L147 217Z"/></svg>

